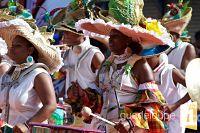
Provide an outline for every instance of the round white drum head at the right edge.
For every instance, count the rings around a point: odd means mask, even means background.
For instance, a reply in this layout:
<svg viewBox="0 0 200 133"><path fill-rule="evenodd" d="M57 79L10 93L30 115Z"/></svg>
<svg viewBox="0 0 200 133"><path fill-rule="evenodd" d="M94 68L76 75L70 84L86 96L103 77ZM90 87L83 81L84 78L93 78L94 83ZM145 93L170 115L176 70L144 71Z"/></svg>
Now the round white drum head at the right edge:
<svg viewBox="0 0 200 133"><path fill-rule="evenodd" d="M185 79L188 93L200 110L200 58L193 59L188 64Z"/></svg>

